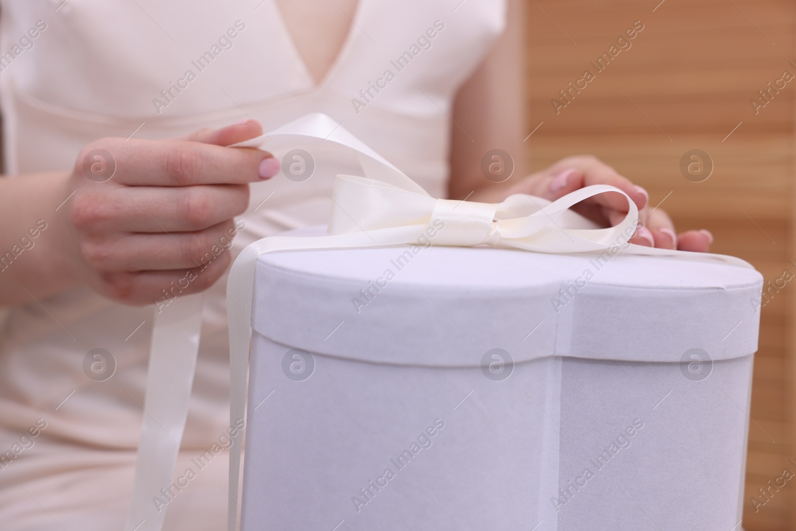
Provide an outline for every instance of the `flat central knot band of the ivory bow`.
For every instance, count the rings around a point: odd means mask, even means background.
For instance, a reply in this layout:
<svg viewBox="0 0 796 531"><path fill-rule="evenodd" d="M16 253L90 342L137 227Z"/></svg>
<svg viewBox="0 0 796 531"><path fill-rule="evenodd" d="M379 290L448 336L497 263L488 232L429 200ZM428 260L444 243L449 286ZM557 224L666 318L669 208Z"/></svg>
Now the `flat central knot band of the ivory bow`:
<svg viewBox="0 0 796 531"><path fill-rule="evenodd" d="M434 243L456 247L472 247L486 243L494 232L497 205L437 199L428 227L438 228ZM441 228L440 228L441 227Z"/></svg>

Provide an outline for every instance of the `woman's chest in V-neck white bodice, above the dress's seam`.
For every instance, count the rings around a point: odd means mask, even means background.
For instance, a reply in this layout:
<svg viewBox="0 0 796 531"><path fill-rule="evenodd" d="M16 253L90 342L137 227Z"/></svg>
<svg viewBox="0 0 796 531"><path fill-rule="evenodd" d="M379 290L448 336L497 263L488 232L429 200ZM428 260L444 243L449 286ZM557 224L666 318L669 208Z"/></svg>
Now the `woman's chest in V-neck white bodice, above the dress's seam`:
<svg viewBox="0 0 796 531"><path fill-rule="evenodd" d="M96 122L182 119L312 93L352 105L389 71L365 103L438 112L504 24L503 0L458 3L0 0L0 54L46 25L3 71L4 92Z"/></svg>

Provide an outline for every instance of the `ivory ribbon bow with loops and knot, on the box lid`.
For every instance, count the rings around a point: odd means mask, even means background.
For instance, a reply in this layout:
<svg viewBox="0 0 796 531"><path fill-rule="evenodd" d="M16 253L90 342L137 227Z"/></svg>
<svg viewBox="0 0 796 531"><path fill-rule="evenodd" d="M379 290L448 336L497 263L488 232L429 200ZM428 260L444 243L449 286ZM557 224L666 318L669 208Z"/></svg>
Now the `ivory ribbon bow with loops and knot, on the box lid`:
<svg viewBox="0 0 796 531"><path fill-rule="evenodd" d="M628 212L614 227L596 228L569 208L603 192L627 197ZM361 233L363 240L519 248L536 252L583 252L623 245L635 231L638 209L622 190L591 185L557 201L515 194L501 203L434 199L377 178L338 175L329 221L330 234ZM389 243L388 243L389 242Z"/></svg>

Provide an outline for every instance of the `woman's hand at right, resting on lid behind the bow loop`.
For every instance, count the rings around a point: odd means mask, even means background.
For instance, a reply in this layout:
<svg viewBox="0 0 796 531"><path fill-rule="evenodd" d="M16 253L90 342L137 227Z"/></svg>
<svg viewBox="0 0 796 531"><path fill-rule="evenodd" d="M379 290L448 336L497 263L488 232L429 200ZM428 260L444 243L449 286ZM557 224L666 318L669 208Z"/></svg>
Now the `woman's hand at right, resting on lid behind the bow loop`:
<svg viewBox="0 0 796 531"><path fill-rule="evenodd" d="M528 193L555 201L567 193L588 185L611 185L630 196L638 206L639 225L630 239L633 244L681 251L707 252L713 236L706 230L687 231L675 235L674 225L661 209L650 209L650 196L616 170L591 155L563 158L548 169L507 189L512 193ZM601 225L616 225L627 213L627 200L618 193L600 193L572 207L573 210Z"/></svg>

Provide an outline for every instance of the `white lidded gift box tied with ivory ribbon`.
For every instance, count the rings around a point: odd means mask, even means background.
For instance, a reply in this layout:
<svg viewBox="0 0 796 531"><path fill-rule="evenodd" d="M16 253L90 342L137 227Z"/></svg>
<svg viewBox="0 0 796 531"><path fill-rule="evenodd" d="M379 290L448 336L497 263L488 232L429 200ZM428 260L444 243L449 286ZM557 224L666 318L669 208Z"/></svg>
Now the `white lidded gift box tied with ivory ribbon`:
<svg viewBox="0 0 796 531"><path fill-rule="evenodd" d="M259 256L241 529L738 529L762 283L707 256Z"/></svg>

